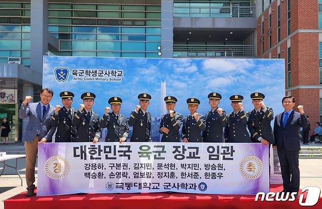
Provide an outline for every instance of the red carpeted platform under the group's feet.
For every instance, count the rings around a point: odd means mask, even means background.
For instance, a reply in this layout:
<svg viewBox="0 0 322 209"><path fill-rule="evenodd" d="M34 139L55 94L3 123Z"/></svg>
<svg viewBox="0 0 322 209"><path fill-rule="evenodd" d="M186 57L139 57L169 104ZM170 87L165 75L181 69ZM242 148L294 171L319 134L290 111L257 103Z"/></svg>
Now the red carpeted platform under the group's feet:
<svg viewBox="0 0 322 209"><path fill-rule="evenodd" d="M280 192L281 185L271 185ZM207 195L186 193L84 194L25 197L23 192L4 201L4 209L322 209L322 198L313 207L294 202L255 202L255 195Z"/></svg>

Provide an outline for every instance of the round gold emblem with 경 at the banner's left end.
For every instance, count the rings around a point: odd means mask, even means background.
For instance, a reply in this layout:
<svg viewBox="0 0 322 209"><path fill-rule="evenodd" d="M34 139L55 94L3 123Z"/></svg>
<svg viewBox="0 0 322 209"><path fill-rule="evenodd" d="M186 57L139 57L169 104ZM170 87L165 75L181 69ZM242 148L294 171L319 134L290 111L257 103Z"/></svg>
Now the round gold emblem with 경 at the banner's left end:
<svg viewBox="0 0 322 209"><path fill-rule="evenodd" d="M49 157L45 163L45 173L50 179L63 179L69 170L69 162L61 156Z"/></svg>

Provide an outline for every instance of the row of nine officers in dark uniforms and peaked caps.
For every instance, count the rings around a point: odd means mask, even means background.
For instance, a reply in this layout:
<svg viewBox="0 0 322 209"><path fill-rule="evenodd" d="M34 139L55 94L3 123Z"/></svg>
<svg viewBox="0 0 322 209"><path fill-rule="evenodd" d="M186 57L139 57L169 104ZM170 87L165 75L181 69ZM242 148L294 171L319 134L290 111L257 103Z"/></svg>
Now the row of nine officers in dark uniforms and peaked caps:
<svg viewBox="0 0 322 209"><path fill-rule="evenodd" d="M81 95L83 104L78 110L71 107L74 94L69 91L60 93L63 107L56 106L50 125L57 127L55 142L93 142L96 143L102 132L107 128L105 142L124 142L129 135L129 126L133 127L131 142L151 141L151 113L147 111L151 96L146 93L138 95L139 105L131 112L129 121L119 113L122 99L111 97L105 107L105 113L99 120L98 114L92 111L95 94L85 92ZM200 101L197 98L186 100L190 114L183 117L175 111L177 98L166 96L164 102L167 114L162 115L160 122L161 142L261 142L269 145L274 142L271 121L273 109L266 107L265 95L259 92L251 94L254 109L251 113L243 109L241 95L230 97L233 111L226 115L219 108L222 96L217 92L208 94L211 110L205 116L197 113ZM110 110L112 109L112 112ZM181 124L182 133L179 133ZM247 128L249 132L247 131ZM224 134L225 133L225 134ZM223 135L224 134L224 135ZM180 137L181 136L181 137ZM224 136L224 137L223 137Z"/></svg>

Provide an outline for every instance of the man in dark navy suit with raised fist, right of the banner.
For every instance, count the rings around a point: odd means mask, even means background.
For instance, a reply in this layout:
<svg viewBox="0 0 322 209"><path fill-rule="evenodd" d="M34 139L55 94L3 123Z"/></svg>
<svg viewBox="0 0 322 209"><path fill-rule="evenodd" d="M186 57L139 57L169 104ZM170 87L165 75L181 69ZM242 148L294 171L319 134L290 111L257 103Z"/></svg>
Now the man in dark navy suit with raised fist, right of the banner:
<svg viewBox="0 0 322 209"><path fill-rule="evenodd" d="M307 127L308 122L302 105L298 106L299 112L293 110L294 97L283 97L282 105L284 112L275 117L273 148L277 149L283 192L299 192L299 127Z"/></svg>

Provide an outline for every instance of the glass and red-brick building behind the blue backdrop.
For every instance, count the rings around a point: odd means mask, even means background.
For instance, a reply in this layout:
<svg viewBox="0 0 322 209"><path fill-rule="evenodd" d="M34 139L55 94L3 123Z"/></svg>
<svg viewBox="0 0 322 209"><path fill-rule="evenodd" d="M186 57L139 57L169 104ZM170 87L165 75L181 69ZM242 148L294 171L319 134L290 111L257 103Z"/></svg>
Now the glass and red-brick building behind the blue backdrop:
<svg viewBox="0 0 322 209"><path fill-rule="evenodd" d="M320 28L322 0L0 0L0 91L17 98L0 118L21 139L19 106L40 100L42 56L66 55L283 58L286 94L319 121Z"/></svg>

